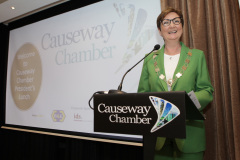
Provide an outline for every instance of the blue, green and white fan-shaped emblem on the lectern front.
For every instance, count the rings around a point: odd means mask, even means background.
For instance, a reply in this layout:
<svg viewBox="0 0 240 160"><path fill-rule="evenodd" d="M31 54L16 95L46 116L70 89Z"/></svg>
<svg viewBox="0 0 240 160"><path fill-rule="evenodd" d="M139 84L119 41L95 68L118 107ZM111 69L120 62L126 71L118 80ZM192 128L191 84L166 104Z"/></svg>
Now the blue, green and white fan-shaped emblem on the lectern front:
<svg viewBox="0 0 240 160"><path fill-rule="evenodd" d="M149 99L158 115L151 132L157 131L180 115L180 110L174 104L154 96L149 96Z"/></svg>

